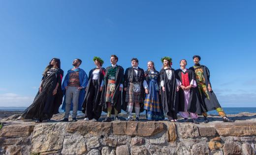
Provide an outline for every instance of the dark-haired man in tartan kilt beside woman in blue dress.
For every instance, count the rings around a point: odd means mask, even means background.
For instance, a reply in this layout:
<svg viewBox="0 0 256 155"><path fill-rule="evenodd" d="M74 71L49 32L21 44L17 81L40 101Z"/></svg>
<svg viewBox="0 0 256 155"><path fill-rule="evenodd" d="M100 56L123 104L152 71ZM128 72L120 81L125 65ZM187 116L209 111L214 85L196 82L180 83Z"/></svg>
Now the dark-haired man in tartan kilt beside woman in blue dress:
<svg viewBox="0 0 256 155"><path fill-rule="evenodd" d="M145 78L143 69L138 67L139 61L137 58L131 59L131 67L126 69L124 79L124 97L123 109L128 112L128 121L134 121L132 112L135 112L136 119L139 121L139 113L144 111L143 95L144 87L143 81ZM133 104L135 103L135 105ZM134 109L133 109L134 106Z"/></svg>

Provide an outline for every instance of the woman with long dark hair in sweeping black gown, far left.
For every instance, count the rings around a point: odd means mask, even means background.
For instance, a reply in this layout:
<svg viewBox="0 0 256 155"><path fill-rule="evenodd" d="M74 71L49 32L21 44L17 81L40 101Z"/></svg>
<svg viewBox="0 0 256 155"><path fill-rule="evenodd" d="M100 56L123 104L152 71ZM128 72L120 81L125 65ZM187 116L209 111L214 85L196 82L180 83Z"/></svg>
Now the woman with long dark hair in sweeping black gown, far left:
<svg viewBox="0 0 256 155"><path fill-rule="evenodd" d="M61 90L64 71L61 60L53 58L43 72L43 78L33 103L23 112L23 119L37 119L35 123L47 122L59 113L63 92Z"/></svg>

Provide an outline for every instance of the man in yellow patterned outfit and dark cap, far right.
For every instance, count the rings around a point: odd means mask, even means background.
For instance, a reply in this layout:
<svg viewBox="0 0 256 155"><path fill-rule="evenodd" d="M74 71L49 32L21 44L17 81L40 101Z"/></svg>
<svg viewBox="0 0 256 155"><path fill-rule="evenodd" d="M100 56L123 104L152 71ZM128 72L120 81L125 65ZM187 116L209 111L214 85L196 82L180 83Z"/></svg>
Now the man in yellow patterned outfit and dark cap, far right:
<svg viewBox="0 0 256 155"><path fill-rule="evenodd" d="M204 111L215 110L219 113L219 115L223 118L223 122L234 122L233 120L229 120L226 117L226 114L221 107L215 93L212 90L212 85L210 82L210 71L204 66L200 65L201 57L199 55L193 56L194 66L190 68L195 73L197 88L200 93L200 97L202 99L202 107ZM208 123L209 119L207 117L207 113L203 112L204 123Z"/></svg>

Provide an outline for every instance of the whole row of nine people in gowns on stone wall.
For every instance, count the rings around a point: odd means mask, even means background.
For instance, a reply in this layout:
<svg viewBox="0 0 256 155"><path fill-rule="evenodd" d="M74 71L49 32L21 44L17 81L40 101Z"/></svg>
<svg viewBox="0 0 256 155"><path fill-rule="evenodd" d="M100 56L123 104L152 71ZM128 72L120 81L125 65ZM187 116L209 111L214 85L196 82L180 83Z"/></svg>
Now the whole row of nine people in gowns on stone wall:
<svg viewBox="0 0 256 155"><path fill-rule="evenodd" d="M140 121L140 113L146 110L146 118L151 121L164 120L166 114L169 121L176 122L179 113L184 122L198 124L198 115L203 115L204 123L208 123L207 111L217 110L224 122L233 122L218 102L211 87L209 69L199 64L199 55L193 56L194 66L189 69L186 69L187 61L182 59L178 70L171 68L170 57L162 57L160 72L153 61L148 62L144 72L138 67L137 58L131 59L131 67L126 70L117 65L116 55L110 56L111 65L106 69L100 57L95 56L93 60L96 68L90 71L89 78L79 68L82 60L75 59L74 67L67 71L62 83L61 61L53 58L43 72L33 103L21 117L35 118L36 123L47 122L53 114L59 113L63 103L63 122L68 122L70 110L73 122L77 121L78 110L85 113L86 121L98 121L102 110L107 113L102 122L111 122L111 115L117 121L122 109L127 112L128 121Z"/></svg>

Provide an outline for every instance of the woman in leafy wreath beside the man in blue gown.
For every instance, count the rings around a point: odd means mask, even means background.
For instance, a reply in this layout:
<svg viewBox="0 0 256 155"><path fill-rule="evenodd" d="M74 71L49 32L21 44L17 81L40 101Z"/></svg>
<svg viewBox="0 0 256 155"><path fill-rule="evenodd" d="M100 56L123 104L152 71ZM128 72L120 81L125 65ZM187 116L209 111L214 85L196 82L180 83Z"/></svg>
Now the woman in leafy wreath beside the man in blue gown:
<svg viewBox="0 0 256 155"><path fill-rule="evenodd" d="M102 106L99 105L103 78L106 70L102 68L104 61L100 57L94 57L96 68L89 72L89 81L86 87L85 100L82 105L82 112L85 113L86 121L97 121L102 112Z"/></svg>

